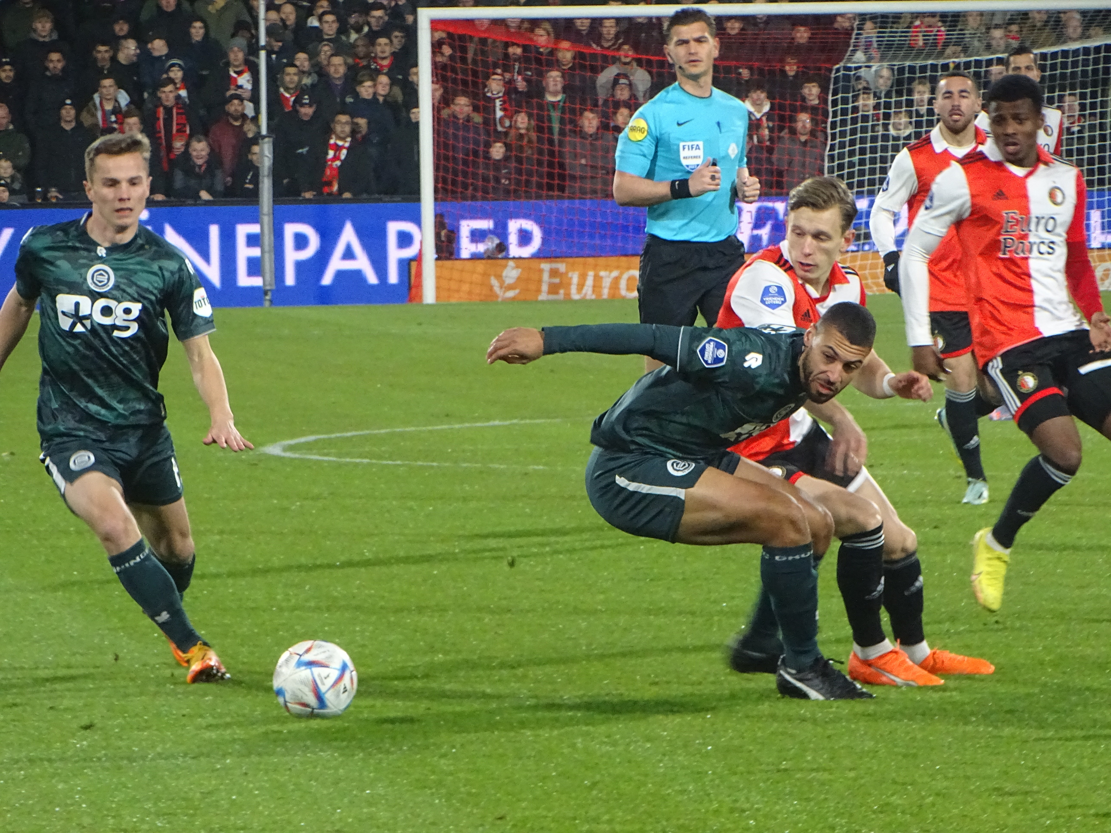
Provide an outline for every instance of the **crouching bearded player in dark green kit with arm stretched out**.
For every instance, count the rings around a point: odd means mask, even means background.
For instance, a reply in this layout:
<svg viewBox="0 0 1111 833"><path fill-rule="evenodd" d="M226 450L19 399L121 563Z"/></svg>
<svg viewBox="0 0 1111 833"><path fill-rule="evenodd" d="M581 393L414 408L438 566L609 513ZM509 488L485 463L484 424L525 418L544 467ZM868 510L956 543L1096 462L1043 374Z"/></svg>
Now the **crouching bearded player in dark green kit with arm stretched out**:
<svg viewBox="0 0 1111 833"><path fill-rule="evenodd" d="M775 684L810 700L871 696L818 650L813 558L829 545L827 511L793 485L727 451L805 401L829 402L863 373L875 322L837 304L805 333L665 324L513 329L487 361L524 364L551 353L643 354L669 365L647 373L594 420L587 494L610 524L685 544L763 544L760 579L783 634ZM874 374L858 383L883 397ZM908 372L883 380L907 398L930 384Z"/></svg>

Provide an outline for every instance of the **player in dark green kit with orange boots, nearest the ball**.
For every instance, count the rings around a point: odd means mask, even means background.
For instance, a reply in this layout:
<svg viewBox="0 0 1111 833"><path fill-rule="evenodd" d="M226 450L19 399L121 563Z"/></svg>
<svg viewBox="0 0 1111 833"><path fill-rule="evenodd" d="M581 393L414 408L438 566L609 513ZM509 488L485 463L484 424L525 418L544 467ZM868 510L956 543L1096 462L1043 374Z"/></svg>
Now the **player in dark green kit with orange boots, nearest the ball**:
<svg viewBox="0 0 1111 833"><path fill-rule="evenodd" d="M187 682L229 676L182 608L196 563L158 375L166 314L211 414L204 444L253 448L236 430L212 307L181 252L139 224L150 142L113 133L84 153L92 211L31 229L0 308L0 367L40 309L38 428L47 473L108 553L120 583L166 634Z"/></svg>

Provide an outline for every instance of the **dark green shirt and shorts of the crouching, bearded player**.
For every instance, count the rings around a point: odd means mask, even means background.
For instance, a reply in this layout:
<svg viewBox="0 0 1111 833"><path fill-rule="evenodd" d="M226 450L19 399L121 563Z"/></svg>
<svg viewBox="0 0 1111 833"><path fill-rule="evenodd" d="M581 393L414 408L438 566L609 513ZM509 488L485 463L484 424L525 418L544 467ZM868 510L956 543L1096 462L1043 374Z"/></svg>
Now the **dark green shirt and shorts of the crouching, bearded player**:
<svg viewBox="0 0 1111 833"><path fill-rule="evenodd" d="M643 354L645 373L590 432L587 494L610 524L674 541L685 490L707 468L732 474L729 451L807 400L803 331L595 324L544 329L544 354Z"/></svg>

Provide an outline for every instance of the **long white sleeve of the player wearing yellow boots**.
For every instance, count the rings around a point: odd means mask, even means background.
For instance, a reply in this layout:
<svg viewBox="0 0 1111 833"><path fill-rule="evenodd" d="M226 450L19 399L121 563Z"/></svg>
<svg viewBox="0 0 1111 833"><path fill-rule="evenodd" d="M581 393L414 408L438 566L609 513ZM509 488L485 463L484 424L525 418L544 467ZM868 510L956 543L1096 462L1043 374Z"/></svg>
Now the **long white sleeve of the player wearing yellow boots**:
<svg viewBox="0 0 1111 833"><path fill-rule="evenodd" d="M945 237L949 227L969 215L972 195L964 170L953 162L933 180L933 188L919 209L907 233L899 282L902 285L907 343L922 347L933 343L930 327L930 255Z"/></svg>

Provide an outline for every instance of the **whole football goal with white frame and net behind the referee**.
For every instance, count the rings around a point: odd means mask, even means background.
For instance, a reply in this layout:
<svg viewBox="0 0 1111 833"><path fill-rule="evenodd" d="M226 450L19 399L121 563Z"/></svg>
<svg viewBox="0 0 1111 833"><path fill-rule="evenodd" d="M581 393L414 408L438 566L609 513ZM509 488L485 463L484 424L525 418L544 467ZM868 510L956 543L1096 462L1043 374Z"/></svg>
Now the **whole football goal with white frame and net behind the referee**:
<svg viewBox="0 0 1111 833"><path fill-rule="evenodd" d="M714 86L750 111L745 154L762 194L738 203L748 251L782 240L793 185L832 173L861 207L848 261L882 291L868 210L891 159L935 123L939 74L967 69L988 86L1022 38L1038 51L1047 103L1064 112L1062 155L1088 171L1102 245L1111 12L1090 1L1070 12L933 6L943 11L703 7L721 42ZM637 297L645 210L614 203L614 151L637 108L675 80L663 24L678 8L420 10L424 245L414 300Z"/></svg>

